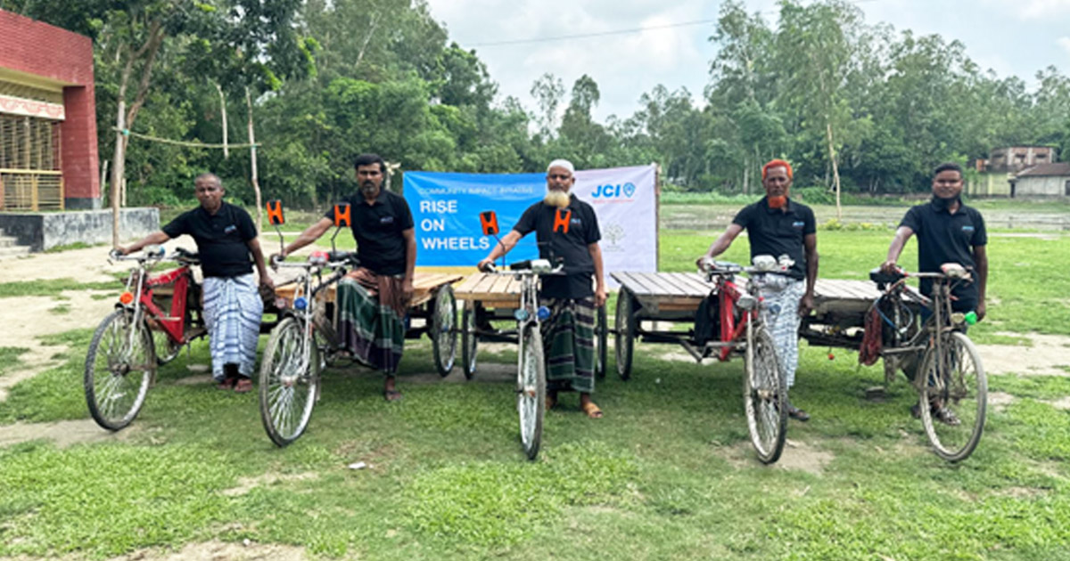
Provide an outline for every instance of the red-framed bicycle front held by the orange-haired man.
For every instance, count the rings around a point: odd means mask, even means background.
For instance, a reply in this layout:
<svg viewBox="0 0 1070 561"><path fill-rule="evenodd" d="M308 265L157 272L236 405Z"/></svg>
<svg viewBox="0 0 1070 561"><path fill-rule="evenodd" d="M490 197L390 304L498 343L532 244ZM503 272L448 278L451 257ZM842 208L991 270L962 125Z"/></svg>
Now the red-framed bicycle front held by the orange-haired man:
<svg viewBox="0 0 1070 561"><path fill-rule="evenodd" d="M763 263L763 255L754 263ZM724 261L704 260L701 265L717 295L718 337L704 342L701 357L716 353L727 361L733 353L744 356L744 411L751 445L763 464L780 458L788 434L788 383L777 360L773 336L762 318L764 306L759 285L770 266L742 267ZM746 287L735 276L749 276Z"/></svg>

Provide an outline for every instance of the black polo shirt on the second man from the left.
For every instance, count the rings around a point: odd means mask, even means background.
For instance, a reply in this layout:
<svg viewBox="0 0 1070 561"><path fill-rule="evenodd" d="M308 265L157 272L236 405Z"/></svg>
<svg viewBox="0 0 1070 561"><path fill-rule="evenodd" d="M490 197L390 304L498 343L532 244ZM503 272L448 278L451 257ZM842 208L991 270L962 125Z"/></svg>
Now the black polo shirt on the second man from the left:
<svg viewBox="0 0 1070 561"><path fill-rule="evenodd" d="M413 227L412 212L404 198L380 189L368 204L361 194L346 199L350 205L356 256L361 266L377 275L400 275L406 271L406 241L401 232ZM334 207L324 217L334 220Z"/></svg>

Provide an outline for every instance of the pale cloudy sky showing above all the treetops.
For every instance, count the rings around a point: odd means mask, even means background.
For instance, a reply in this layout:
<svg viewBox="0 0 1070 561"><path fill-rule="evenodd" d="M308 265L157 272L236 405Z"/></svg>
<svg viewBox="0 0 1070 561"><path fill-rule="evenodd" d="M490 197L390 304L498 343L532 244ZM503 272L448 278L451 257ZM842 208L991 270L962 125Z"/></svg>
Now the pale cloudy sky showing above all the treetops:
<svg viewBox="0 0 1070 561"><path fill-rule="evenodd" d="M715 49L708 37L719 0L428 0L432 16L452 41L476 53L499 84L529 109L529 91L545 73L562 78L566 91L583 74L598 82L595 119L625 118L639 96L658 83L686 87L696 98L708 82ZM1054 65L1070 72L1070 0L858 0L867 24L884 21L897 31L939 33L957 38L982 68L1018 75L1030 85L1037 71ZM751 0L776 21L775 0ZM667 27L675 26L675 27ZM492 45L622 30L641 31L587 38ZM567 94L566 94L567 97Z"/></svg>

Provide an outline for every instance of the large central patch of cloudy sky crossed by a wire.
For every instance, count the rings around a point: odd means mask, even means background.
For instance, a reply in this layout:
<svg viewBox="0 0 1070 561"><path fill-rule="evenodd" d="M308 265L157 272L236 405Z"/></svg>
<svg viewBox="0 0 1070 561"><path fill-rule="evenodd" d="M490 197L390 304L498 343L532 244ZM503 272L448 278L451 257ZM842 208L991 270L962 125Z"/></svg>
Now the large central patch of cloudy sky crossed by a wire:
<svg viewBox="0 0 1070 561"><path fill-rule="evenodd" d="M664 28L684 21L714 19L717 5L703 0L429 0L431 14L443 20L452 41L475 48L502 96L513 95L529 108L532 82L545 73L562 79L566 103L572 83L587 74L598 83L601 100L595 119L630 116L638 99L658 83L670 90L686 85L701 94L713 48L706 42L712 24ZM505 41L641 31L517 45Z"/></svg>

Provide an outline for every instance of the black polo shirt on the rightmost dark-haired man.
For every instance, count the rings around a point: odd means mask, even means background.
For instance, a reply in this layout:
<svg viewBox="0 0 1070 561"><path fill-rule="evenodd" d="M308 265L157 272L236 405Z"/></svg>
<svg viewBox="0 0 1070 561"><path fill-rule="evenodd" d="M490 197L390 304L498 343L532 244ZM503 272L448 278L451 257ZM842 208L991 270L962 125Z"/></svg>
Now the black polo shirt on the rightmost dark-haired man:
<svg viewBox="0 0 1070 561"><path fill-rule="evenodd" d="M938 208L932 201L919 204L906 212L899 225L910 228L918 236L920 272L938 272L944 263L976 267L974 248L989 243L981 213L962 203L954 214ZM932 279L921 279L921 294L932 294ZM977 306L977 285L973 282L959 283L951 294L958 298L952 306L957 311L969 311Z"/></svg>

